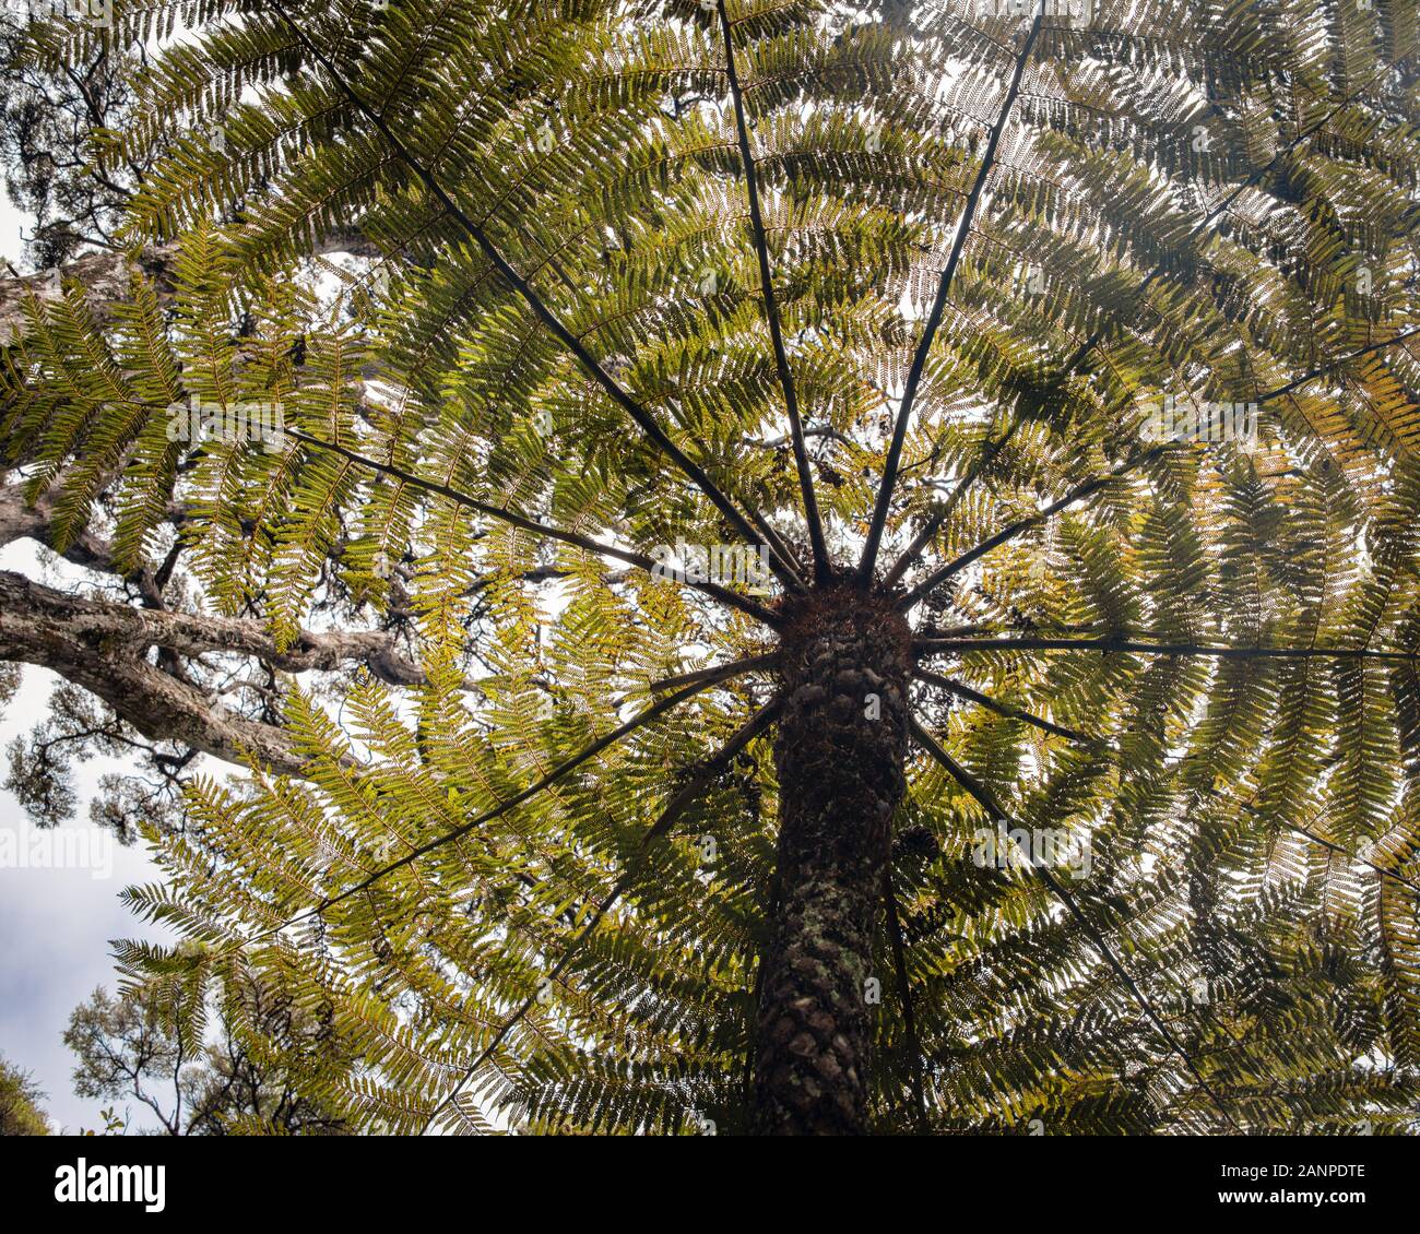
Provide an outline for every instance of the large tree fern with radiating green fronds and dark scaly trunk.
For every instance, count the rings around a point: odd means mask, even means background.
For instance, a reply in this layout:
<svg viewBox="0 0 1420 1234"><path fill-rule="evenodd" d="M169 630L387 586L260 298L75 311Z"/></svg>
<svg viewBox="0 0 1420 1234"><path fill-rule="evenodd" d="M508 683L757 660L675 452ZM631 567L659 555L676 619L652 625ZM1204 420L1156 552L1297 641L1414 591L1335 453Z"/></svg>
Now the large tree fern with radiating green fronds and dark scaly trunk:
<svg viewBox="0 0 1420 1234"><path fill-rule="evenodd" d="M1414 6L1056 9L47 36L173 257L26 310L11 521L162 585L0 650L251 765L131 902L352 1123L1413 1126Z"/></svg>

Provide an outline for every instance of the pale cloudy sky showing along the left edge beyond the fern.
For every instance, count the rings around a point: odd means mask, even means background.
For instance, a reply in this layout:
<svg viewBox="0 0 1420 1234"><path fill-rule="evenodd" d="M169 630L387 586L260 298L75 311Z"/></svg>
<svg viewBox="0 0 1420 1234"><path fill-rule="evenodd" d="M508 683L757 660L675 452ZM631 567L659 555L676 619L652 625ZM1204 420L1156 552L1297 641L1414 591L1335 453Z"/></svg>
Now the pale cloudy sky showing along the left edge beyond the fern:
<svg viewBox="0 0 1420 1234"><path fill-rule="evenodd" d="M0 193L0 257L20 270L20 229L26 223ZM0 550L0 569L36 577L36 562L31 544ZM9 771L3 747L45 719L55 680L44 669L26 667L24 682L0 719L0 778ZM80 808L61 828L64 836L41 832L36 839L14 794L0 791L0 1054L31 1072L45 1092L43 1108L57 1130L102 1126L98 1109L105 1105L74 1093L74 1055L61 1039L70 1012L95 985L115 987L109 940L158 937L118 899L125 886L158 878L146 849L141 841L132 848L114 843L88 821L88 798L98 778L122 768L122 761L112 758L81 765ZM20 855L28 859L23 868ZM40 868L36 856L58 858L64 865ZM141 1109L133 1110L135 1123L142 1122Z"/></svg>

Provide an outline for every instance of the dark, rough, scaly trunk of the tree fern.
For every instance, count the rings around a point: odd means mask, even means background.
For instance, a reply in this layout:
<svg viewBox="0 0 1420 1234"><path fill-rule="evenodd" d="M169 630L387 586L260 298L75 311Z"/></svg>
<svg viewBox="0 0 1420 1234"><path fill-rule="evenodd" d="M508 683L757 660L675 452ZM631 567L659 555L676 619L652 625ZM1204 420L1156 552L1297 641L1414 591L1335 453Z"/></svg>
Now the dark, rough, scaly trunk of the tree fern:
<svg viewBox="0 0 1420 1234"><path fill-rule="evenodd" d="M816 592L784 635L777 907L761 959L754 1126L866 1130L872 939L906 791L912 636L889 602Z"/></svg>

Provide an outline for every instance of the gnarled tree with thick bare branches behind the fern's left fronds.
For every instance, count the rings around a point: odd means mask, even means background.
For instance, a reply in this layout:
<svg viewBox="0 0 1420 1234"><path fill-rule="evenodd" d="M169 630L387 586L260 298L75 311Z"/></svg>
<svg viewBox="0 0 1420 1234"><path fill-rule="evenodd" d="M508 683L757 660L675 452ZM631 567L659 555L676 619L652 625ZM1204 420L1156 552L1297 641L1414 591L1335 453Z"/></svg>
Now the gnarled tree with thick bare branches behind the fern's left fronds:
<svg viewBox="0 0 1420 1234"><path fill-rule="evenodd" d="M148 280L159 305L169 305L178 277L172 268L175 247L148 244L126 251L115 233L124 204L160 155L172 152L183 138L212 141L210 129L193 133L163 126L141 155L111 158L105 139L133 122L131 80L146 64L151 41L141 31L129 31L129 37L102 37L77 47L68 41L70 33L64 23L0 14L0 64L7 84L0 160L7 170L11 200L37 220L27 253L33 264L41 267L30 275L11 270L14 277L0 281L0 337L4 338L23 329L27 301L60 298L65 287L82 287L95 320L104 324L109 324L108 314L115 305L128 301L135 274ZM234 209L240 213L240 206ZM369 254L373 250L345 229L312 246L312 253L332 251ZM298 331L291 345L301 345ZM9 474L16 479L14 471ZM115 476L116 471L106 474L95 486L101 506L111 501L108 490ZM118 599L122 605L114 613L118 621L136 616L125 612L132 605L153 611L190 608L196 594L185 569L185 545L179 534L190 517L190 510L176 504L168 511L170 544L142 568L119 559L108 538L94 530L65 540L61 557L77 568L68 578L81 581L91 604ZM48 564L47 550L57 535L67 535L64 518L64 511L53 501L41 498L28 504L20 486L11 483L0 496L0 544L37 541L43 545L41 564ZM31 652L14 652L10 645L6 655L34 662L33 601L53 589L41 586L31 594L28 588L36 584L16 577L10 577L9 584L4 608L18 618L11 629L30 640ZM65 598L57 599L64 602ZM53 615L74 632L68 618L77 612L55 611ZM89 609L91 618L102 612L101 606ZM57 690L47 717L11 743L6 787L18 795L37 822L53 825L74 812L78 763L95 755L126 758L131 767L124 774L102 777L91 817L112 828L124 842L131 842L141 818L180 825L180 787L203 748L231 754L239 740L256 743L281 764L284 744L273 723L278 724L275 675L283 669L304 665L339 669L346 662L364 662L392 679L417 679L417 672L395 650L395 638L364 636L354 643L335 638L314 657L298 652L293 659L274 655L258 622L247 628L258 638L251 657L260 663L253 669L243 663L236 646L243 640L233 636L239 629L231 625L207 628L197 642L182 650L155 649L138 628L132 630L136 640L109 638L101 655L92 648L77 655L72 640L65 640L65 652L54 643L51 653L65 660L70 680L81 684ZM126 650L121 650L125 643ZM125 662L145 656L155 665L126 665L125 670ZM18 675L13 662L4 670L0 699L9 701ZM146 679L146 684L139 684L139 677ZM163 699L156 707L151 706L156 701L155 694ZM256 727L233 724L237 717L254 719ZM131 723L135 719L138 723ZM197 737L192 744L189 738L203 730L207 737ZM179 734L180 741L165 740Z"/></svg>

